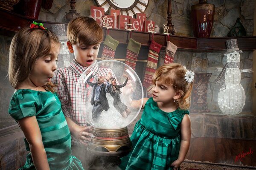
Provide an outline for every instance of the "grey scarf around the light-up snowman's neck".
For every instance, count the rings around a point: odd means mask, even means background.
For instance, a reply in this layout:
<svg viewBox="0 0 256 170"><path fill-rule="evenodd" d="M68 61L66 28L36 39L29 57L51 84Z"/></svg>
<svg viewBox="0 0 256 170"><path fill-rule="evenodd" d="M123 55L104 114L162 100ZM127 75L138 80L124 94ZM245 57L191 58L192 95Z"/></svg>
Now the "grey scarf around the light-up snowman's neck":
<svg viewBox="0 0 256 170"><path fill-rule="evenodd" d="M223 91L226 89L226 83L225 83L225 73L227 68L239 68L240 62L227 62L224 67L221 70L221 73L218 75L218 77L215 79L214 83L218 84L220 86L219 91Z"/></svg>

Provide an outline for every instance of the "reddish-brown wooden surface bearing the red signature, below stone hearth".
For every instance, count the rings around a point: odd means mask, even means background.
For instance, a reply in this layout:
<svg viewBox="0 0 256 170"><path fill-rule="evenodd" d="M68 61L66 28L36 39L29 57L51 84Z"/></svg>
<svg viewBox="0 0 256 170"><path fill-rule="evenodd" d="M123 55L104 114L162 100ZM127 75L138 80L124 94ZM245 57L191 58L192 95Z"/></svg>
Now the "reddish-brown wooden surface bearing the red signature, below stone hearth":
<svg viewBox="0 0 256 170"><path fill-rule="evenodd" d="M256 141L192 138L186 159L256 166Z"/></svg>

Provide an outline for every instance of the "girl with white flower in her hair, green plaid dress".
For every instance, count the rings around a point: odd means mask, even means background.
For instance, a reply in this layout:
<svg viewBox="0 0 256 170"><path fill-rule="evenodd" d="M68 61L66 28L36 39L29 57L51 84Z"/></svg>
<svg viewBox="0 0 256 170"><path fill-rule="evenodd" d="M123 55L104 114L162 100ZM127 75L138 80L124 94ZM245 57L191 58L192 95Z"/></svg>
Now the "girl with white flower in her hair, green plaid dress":
<svg viewBox="0 0 256 170"><path fill-rule="evenodd" d="M194 73L171 63L157 69L151 98L131 136L133 150L122 158L122 170L177 170L189 150L191 121L188 108ZM132 101L131 107L138 106Z"/></svg>

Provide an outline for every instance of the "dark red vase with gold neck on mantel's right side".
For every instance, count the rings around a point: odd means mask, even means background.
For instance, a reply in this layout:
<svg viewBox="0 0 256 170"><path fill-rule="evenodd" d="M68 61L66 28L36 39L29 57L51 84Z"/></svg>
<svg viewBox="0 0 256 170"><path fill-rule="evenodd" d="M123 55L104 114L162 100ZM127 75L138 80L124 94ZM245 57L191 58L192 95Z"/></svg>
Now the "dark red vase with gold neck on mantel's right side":
<svg viewBox="0 0 256 170"><path fill-rule="evenodd" d="M195 37L210 37L214 21L215 5L206 0L199 0L199 4L191 6L191 19Z"/></svg>

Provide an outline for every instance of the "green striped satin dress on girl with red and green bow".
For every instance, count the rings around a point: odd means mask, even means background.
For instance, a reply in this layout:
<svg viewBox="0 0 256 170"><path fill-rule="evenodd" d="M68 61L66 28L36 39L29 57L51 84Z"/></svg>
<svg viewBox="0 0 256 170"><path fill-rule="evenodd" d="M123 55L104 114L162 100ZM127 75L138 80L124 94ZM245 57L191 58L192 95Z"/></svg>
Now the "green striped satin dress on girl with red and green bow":
<svg viewBox="0 0 256 170"><path fill-rule="evenodd" d="M10 101L9 114L16 121L36 116L51 170L84 170L81 162L71 155L71 137L61 102L52 92L17 90ZM29 144L24 139L26 150ZM31 153L19 170L35 170Z"/></svg>

